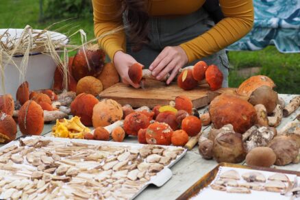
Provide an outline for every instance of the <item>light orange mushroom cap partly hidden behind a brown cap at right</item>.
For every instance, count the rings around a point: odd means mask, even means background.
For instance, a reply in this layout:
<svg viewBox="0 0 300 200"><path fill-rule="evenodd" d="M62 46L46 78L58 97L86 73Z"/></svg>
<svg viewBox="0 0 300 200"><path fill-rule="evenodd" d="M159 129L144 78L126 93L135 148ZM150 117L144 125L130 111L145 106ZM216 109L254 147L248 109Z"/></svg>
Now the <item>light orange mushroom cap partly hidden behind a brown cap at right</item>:
<svg viewBox="0 0 300 200"><path fill-rule="evenodd" d="M252 92L259 88L260 86L269 86L270 88L274 88L275 84L272 79L264 75L255 75L249 77L249 79L242 82L236 91L238 95L243 95L250 97Z"/></svg>

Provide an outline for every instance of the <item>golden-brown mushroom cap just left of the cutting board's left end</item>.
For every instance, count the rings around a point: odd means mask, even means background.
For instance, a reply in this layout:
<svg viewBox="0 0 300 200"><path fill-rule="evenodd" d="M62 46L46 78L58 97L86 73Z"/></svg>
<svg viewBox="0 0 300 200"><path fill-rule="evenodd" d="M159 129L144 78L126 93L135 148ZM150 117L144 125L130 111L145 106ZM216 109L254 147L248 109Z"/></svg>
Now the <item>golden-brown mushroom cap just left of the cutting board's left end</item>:
<svg viewBox="0 0 300 200"><path fill-rule="evenodd" d="M94 95L95 97L100 94L103 90L101 81L92 76L86 76L79 80L76 88L76 95L86 93Z"/></svg>

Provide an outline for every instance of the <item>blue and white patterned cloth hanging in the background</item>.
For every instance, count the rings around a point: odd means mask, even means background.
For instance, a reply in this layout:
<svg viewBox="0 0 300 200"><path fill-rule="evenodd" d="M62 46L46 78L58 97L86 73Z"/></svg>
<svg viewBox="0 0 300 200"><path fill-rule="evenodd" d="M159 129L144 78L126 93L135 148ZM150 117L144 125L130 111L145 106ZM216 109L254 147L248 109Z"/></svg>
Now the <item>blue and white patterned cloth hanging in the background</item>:
<svg viewBox="0 0 300 200"><path fill-rule="evenodd" d="M282 53L300 53L300 0L253 0L254 26L229 51L260 50L275 45Z"/></svg>

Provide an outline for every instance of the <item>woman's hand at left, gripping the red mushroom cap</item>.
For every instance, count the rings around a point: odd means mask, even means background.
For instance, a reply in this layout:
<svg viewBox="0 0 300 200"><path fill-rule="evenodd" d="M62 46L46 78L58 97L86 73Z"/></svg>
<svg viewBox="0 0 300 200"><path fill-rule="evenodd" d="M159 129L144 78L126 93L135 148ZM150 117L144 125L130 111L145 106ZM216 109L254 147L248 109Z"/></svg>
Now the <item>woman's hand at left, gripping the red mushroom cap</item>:
<svg viewBox="0 0 300 200"><path fill-rule="evenodd" d="M132 64L136 63L136 60L129 54L123 51L116 51L114 54L114 67L118 74L121 76L121 80L124 84L130 84L134 88L140 88L139 84L134 84L128 76L128 69Z"/></svg>

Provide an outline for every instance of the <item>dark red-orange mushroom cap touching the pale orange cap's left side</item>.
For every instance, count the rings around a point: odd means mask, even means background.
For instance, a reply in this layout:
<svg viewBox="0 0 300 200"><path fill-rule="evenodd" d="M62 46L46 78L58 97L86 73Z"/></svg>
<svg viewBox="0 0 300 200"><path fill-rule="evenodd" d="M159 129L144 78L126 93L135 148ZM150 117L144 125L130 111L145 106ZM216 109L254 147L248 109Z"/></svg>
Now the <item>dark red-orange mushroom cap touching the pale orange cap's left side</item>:
<svg viewBox="0 0 300 200"><path fill-rule="evenodd" d="M71 112L80 117L80 121L86 126L92 126L92 110L99 103L93 95L82 93L71 103Z"/></svg>

